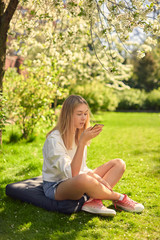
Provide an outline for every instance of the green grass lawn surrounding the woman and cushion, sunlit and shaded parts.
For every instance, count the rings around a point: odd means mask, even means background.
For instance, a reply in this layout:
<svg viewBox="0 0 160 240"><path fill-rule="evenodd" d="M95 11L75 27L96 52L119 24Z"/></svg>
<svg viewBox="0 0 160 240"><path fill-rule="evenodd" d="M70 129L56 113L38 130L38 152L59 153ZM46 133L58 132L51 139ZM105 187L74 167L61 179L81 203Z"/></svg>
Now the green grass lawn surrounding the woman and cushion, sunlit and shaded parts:
<svg viewBox="0 0 160 240"><path fill-rule="evenodd" d="M122 158L127 169L115 191L143 203L145 210L141 214L118 211L114 218L84 212L64 215L7 197L8 183L41 175L48 131L43 126L34 142L11 144L13 128L7 127L0 154L1 240L160 239L160 114L101 113L95 121L105 127L88 147L88 166ZM109 201L104 204L111 206Z"/></svg>

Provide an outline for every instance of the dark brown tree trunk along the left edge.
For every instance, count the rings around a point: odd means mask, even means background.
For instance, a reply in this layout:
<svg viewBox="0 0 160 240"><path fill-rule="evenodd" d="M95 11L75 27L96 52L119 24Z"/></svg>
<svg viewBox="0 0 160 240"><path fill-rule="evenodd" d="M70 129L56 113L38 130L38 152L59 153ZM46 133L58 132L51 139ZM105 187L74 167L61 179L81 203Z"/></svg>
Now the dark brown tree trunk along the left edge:
<svg viewBox="0 0 160 240"><path fill-rule="evenodd" d="M3 96L3 77L5 73L6 42L9 24L18 6L19 0L10 0L5 10L5 1L0 0L0 95ZM2 98L0 98L2 111ZM1 120L1 119L0 119ZM2 144L2 129L0 129L0 144Z"/></svg>

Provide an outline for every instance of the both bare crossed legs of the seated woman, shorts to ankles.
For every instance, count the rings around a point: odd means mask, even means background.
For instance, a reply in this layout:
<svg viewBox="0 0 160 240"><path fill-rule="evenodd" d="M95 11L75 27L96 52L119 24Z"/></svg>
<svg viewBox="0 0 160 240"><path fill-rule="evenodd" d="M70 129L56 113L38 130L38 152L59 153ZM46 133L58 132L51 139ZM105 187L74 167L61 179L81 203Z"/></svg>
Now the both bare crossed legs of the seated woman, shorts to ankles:
<svg viewBox="0 0 160 240"><path fill-rule="evenodd" d="M125 171L125 163L121 159L111 160L93 170L111 187L120 180ZM89 197L101 200L118 200L120 193L113 192L105 187L96 178L89 174L80 174L60 183L55 193L56 200L78 200L86 193Z"/></svg>

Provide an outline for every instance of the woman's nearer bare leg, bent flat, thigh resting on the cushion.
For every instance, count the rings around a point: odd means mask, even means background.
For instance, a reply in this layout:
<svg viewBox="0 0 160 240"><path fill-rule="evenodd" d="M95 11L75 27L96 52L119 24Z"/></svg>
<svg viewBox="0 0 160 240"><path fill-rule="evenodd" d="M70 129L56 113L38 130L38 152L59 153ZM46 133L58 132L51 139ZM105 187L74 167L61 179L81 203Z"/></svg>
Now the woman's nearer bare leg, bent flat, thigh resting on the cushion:
<svg viewBox="0 0 160 240"><path fill-rule="evenodd" d="M56 200L78 200L86 193L90 198L118 200L119 193L112 192L95 178L80 174L60 183L55 193Z"/></svg>

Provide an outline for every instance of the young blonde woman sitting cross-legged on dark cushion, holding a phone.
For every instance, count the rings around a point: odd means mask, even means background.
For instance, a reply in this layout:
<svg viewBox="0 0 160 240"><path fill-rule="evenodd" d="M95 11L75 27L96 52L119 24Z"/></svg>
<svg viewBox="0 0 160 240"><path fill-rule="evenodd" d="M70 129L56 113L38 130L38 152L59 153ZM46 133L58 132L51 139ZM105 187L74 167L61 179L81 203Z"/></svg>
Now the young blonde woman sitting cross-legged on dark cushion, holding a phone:
<svg viewBox="0 0 160 240"><path fill-rule="evenodd" d="M106 208L101 200L111 200L126 211L141 212L142 204L112 190L125 171L123 160L113 159L94 170L87 167L87 145L103 128L100 125L89 127L89 121L90 111L85 99L69 96L43 147L45 195L54 200L78 200L86 193L90 199L82 210L106 216L114 216L116 212Z"/></svg>

